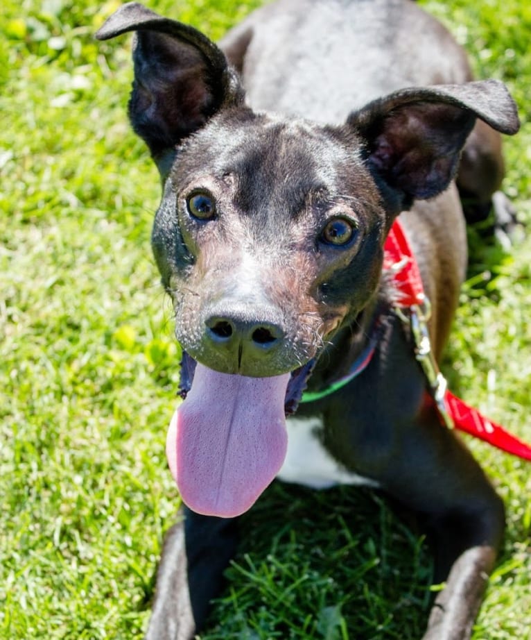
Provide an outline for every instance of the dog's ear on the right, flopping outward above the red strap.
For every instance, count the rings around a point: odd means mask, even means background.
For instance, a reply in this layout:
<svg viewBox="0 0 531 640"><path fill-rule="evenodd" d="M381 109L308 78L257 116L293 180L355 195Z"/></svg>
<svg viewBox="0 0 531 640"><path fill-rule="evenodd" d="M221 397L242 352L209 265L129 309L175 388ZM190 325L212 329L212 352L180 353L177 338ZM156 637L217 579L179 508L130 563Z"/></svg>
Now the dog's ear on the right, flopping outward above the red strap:
<svg viewBox="0 0 531 640"><path fill-rule="evenodd" d="M519 129L516 105L496 80L400 90L351 113L347 124L365 140L377 183L405 209L448 187L476 117L502 133Z"/></svg>

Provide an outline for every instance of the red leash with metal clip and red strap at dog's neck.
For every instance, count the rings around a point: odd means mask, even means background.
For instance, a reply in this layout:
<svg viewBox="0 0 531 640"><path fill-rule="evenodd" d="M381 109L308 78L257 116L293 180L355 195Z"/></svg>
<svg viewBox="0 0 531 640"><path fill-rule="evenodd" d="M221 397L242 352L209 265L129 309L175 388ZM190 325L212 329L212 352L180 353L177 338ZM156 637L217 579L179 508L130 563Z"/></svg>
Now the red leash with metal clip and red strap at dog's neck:
<svg viewBox="0 0 531 640"><path fill-rule="evenodd" d="M446 379L437 367L428 336L429 301L424 294L415 255L398 220L394 221L384 249L383 268L392 272L398 292L396 311L411 328L415 339L415 354L426 374L442 423L485 440L507 453L531 460L531 446L485 418L478 410L469 407L446 389Z"/></svg>

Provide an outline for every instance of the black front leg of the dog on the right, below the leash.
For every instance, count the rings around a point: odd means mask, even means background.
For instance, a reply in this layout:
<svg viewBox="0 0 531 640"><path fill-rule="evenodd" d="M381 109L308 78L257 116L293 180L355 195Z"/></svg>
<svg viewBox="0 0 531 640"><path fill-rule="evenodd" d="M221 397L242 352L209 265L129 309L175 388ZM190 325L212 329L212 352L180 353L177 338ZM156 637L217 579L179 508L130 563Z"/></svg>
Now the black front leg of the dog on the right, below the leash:
<svg viewBox="0 0 531 640"><path fill-rule="evenodd" d="M503 500L433 407L424 407L412 423L395 424L394 432L381 427L378 437L399 442L381 466L385 489L417 514L433 547L433 583L444 587L423 640L469 640L503 540Z"/></svg>

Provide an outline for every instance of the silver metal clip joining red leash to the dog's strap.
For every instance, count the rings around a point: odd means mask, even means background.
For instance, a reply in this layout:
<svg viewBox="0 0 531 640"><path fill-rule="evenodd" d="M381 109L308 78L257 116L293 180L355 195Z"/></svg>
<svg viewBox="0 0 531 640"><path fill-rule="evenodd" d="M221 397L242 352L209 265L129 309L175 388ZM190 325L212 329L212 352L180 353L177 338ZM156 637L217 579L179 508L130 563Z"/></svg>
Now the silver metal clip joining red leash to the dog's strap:
<svg viewBox="0 0 531 640"><path fill-rule="evenodd" d="M419 361L422 371L428 380L430 394L437 405L437 410L449 429L454 428L453 419L446 406L446 378L439 370L439 365L433 355L431 348L430 335L428 332L428 320L431 315L431 305L429 299L421 294L419 304L408 307L409 314L406 315L403 309L397 308L397 315L406 324L411 327L413 340L415 342L415 357ZM409 317L408 317L409 316Z"/></svg>

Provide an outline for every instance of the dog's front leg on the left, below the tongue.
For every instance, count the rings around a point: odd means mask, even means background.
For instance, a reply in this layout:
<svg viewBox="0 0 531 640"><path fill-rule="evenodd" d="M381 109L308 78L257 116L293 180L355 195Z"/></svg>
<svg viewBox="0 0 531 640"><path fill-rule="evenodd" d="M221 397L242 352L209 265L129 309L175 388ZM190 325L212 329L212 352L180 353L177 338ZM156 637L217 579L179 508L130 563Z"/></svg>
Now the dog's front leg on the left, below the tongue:
<svg viewBox="0 0 531 640"><path fill-rule="evenodd" d="M236 519L200 516L186 507L180 516L164 540L146 640L193 638L236 549Z"/></svg>

